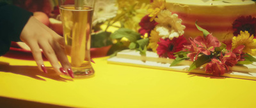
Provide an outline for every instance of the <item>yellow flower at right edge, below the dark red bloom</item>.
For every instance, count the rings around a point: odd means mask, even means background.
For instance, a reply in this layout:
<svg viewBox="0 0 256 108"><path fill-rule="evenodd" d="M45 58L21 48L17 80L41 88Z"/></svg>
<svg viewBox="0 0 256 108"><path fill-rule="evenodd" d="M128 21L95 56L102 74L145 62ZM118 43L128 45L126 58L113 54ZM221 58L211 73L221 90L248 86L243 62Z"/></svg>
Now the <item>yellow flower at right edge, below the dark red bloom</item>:
<svg viewBox="0 0 256 108"><path fill-rule="evenodd" d="M243 52L250 55L256 55L256 39L253 39L253 35L250 36L248 31L240 31L240 34L232 39L232 49L239 45L244 45Z"/></svg>

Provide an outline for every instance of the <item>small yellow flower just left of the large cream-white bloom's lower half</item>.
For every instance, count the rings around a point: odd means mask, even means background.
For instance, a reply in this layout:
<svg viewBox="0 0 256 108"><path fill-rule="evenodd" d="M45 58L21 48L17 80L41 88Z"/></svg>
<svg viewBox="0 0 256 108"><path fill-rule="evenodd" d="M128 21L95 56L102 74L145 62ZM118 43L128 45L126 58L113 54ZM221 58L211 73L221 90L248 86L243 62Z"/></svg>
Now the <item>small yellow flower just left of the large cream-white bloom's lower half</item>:
<svg viewBox="0 0 256 108"><path fill-rule="evenodd" d="M156 30L151 30L150 37L149 37L149 44L148 48L152 49L152 51L156 52L156 48L158 46L158 42L161 36L159 36L159 32Z"/></svg>

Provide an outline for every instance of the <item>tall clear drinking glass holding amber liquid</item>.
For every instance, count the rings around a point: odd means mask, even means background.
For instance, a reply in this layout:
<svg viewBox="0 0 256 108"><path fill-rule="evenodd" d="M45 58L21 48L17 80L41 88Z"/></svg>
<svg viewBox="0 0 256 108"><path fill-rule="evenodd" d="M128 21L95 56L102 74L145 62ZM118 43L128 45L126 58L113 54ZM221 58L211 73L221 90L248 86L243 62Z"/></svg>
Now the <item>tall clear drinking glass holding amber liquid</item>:
<svg viewBox="0 0 256 108"><path fill-rule="evenodd" d="M65 50L74 78L92 76L90 58L94 0L58 0L65 37Z"/></svg>

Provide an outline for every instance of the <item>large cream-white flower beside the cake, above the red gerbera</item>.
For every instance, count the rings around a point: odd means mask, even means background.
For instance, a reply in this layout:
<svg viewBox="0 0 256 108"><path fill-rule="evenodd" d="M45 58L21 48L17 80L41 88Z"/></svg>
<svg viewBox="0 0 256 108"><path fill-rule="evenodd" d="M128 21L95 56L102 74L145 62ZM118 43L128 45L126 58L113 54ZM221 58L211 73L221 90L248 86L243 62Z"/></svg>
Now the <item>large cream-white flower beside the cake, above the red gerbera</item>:
<svg viewBox="0 0 256 108"><path fill-rule="evenodd" d="M155 21L158 23L156 25L157 28L165 28L168 29L169 34L166 34L166 30L159 29L159 36L168 37L172 39L173 37L179 37L184 34L184 29L186 28L184 25L181 24L182 20L178 18L177 14L172 14L169 10L163 10L155 18ZM164 34L164 35L160 35Z"/></svg>

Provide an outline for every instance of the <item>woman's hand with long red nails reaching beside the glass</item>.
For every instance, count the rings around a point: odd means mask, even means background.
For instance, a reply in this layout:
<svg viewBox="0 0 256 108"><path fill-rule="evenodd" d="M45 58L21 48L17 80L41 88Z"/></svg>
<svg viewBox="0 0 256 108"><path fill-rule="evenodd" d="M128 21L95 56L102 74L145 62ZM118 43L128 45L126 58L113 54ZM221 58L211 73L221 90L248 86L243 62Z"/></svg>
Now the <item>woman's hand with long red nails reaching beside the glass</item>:
<svg viewBox="0 0 256 108"><path fill-rule="evenodd" d="M31 48L31 52L40 71L47 73L40 50L41 48L45 57L49 60L58 74L69 74L69 76L74 78L71 65L68 62L64 50L64 37L56 34L56 32L49 27L36 20L35 17L30 17L20 34L20 40L28 44ZM59 64L59 61L62 67Z"/></svg>

